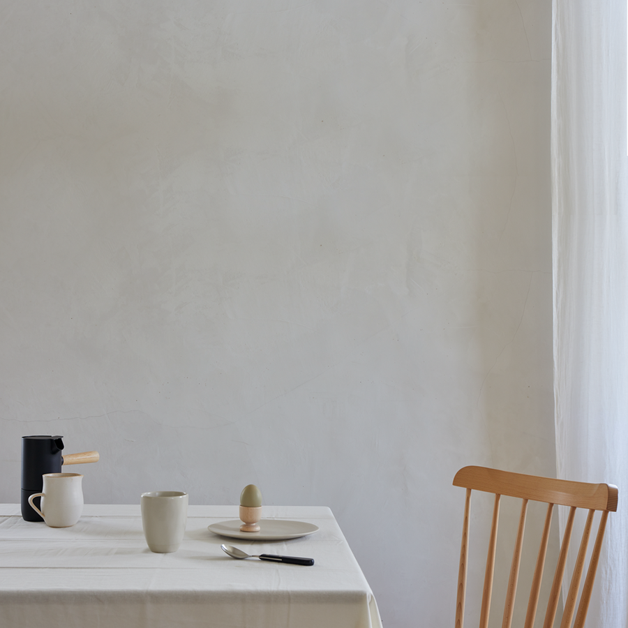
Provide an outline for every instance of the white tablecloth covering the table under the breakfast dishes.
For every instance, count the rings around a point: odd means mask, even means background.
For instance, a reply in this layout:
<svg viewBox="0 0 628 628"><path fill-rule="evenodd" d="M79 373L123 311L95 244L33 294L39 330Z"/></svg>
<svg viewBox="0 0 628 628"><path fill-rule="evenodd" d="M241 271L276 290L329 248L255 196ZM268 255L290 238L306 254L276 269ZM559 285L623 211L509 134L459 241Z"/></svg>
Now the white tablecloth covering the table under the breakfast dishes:
<svg viewBox="0 0 628 628"><path fill-rule="evenodd" d="M179 551L155 554L139 504L85 504L72 528L24 521L19 505L0 504L0 626L381 627L371 588L329 508L265 506L263 515L320 530L288 541L229 540L207 526L237 519L237 506L190 506ZM234 560L220 543L314 558L315 565Z"/></svg>

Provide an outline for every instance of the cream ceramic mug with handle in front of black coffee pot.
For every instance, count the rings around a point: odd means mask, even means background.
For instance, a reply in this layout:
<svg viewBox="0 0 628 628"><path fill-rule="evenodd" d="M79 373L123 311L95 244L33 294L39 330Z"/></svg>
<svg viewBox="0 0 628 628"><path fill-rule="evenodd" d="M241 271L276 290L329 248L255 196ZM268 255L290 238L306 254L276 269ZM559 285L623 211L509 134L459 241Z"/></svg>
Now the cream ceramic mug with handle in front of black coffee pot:
<svg viewBox="0 0 628 628"><path fill-rule="evenodd" d="M45 473L43 489L29 497L29 504L50 528L69 528L83 511L83 476L80 473ZM41 496L41 510L33 499Z"/></svg>

